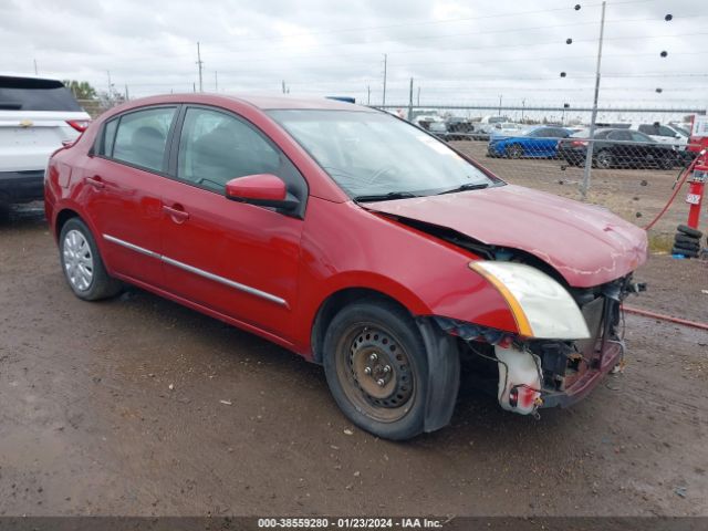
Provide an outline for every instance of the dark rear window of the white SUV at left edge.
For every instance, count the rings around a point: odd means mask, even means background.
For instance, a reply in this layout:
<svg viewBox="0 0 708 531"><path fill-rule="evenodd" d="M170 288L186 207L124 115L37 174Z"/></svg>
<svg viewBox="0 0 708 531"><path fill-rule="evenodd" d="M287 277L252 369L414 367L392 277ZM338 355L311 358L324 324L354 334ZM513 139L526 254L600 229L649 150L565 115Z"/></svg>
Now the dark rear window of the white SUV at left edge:
<svg viewBox="0 0 708 531"><path fill-rule="evenodd" d="M61 81L0 76L0 111L81 112Z"/></svg>

